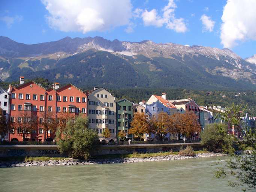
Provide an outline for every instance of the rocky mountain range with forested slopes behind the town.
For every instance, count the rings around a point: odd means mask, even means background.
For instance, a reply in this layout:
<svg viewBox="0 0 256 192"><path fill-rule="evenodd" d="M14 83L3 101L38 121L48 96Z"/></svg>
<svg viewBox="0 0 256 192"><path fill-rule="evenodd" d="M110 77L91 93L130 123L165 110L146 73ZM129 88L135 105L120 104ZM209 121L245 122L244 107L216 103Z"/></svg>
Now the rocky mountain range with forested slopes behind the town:
<svg viewBox="0 0 256 192"><path fill-rule="evenodd" d="M256 55L175 43L71 38L27 45L0 36L0 80L47 78L106 88L256 90Z"/></svg>

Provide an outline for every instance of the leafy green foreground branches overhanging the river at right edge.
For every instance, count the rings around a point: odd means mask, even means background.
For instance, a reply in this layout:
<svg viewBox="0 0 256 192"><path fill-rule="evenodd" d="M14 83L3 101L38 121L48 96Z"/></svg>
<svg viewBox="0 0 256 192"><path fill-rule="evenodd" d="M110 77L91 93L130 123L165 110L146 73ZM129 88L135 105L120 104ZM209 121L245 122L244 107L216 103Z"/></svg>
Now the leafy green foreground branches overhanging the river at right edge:
<svg viewBox="0 0 256 192"><path fill-rule="evenodd" d="M240 117L238 114L244 111L241 105L232 105L231 108L223 114L222 118L226 123L241 129L241 132L247 134L244 138L245 143L251 147L250 153L243 155L232 154L230 159L227 160L226 165L222 165L218 171L215 172L217 178L230 177L235 178L236 181L229 181L232 187L242 187L243 191L256 189L256 135L249 127L242 127L238 124ZM243 148L242 148L243 149Z"/></svg>

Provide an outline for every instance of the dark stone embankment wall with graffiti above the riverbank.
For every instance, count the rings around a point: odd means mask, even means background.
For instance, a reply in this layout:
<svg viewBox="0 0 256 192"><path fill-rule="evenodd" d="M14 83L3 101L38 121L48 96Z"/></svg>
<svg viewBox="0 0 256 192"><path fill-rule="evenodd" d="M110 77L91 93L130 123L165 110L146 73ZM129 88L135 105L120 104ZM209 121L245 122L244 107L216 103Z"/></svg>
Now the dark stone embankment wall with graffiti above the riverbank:
<svg viewBox="0 0 256 192"><path fill-rule="evenodd" d="M155 153L160 151L179 151L181 147L191 145L194 150L201 150L200 143L185 144L140 144L140 145L100 145L93 151L93 155ZM0 145L0 157L28 156L28 157L65 157L60 154L57 145Z"/></svg>

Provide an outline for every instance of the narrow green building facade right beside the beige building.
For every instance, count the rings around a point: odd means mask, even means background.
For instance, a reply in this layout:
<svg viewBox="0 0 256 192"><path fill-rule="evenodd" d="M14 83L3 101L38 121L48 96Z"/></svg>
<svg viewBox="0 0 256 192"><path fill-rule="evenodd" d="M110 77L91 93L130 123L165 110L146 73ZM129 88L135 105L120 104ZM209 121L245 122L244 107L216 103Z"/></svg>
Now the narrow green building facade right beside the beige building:
<svg viewBox="0 0 256 192"><path fill-rule="evenodd" d="M133 104L127 99L121 99L116 102L117 106L117 131L124 131L128 136L131 120L133 118Z"/></svg>

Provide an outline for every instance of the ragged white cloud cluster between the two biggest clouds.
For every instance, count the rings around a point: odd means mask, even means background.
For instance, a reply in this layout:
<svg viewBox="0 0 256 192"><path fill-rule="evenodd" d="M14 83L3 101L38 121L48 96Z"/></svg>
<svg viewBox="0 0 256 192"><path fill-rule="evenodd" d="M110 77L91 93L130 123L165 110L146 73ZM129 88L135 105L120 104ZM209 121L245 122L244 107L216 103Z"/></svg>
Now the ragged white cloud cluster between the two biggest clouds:
<svg viewBox="0 0 256 192"><path fill-rule="evenodd" d="M143 23L145 26L155 26L162 27L163 25L166 28L175 30L178 33L184 33L187 31L187 26L184 22L183 18L175 17L175 9L177 8L174 0L169 0L167 6L163 8L163 16L158 15L156 9L152 9L151 11L144 10L141 14Z"/></svg>

